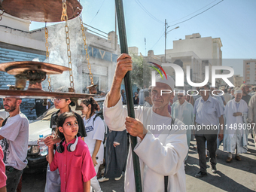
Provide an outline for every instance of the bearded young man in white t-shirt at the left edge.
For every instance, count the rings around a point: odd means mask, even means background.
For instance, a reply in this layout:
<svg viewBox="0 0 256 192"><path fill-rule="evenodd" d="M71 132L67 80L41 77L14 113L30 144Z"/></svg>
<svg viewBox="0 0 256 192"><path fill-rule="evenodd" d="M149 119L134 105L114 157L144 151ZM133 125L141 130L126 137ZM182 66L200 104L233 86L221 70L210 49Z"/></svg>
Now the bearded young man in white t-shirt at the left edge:
<svg viewBox="0 0 256 192"><path fill-rule="evenodd" d="M3 99L5 111L10 116L5 119L0 130L0 143L4 152L5 174L8 179L8 192L16 191L23 169L26 167L26 154L29 141L29 120L20 112L21 99Z"/></svg>

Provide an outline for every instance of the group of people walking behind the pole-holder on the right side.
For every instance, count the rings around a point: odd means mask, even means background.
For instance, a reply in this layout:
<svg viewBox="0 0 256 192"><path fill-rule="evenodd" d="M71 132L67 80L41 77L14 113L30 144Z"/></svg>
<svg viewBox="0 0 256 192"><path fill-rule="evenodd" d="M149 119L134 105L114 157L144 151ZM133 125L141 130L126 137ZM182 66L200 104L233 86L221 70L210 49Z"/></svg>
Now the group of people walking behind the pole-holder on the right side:
<svg viewBox="0 0 256 192"><path fill-rule="evenodd" d="M187 128L187 145L195 137L199 154L200 172L197 178L207 175L206 158L210 158L212 172L216 172L217 149L223 142L227 151L227 163L241 160L239 154L247 152L248 135L254 138L256 115L256 86L242 84L241 87L197 87L200 94L176 92L176 99L169 101L171 116L181 120ZM151 87L148 88L151 90ZM175 102L174 102L175 100ZM145 107L152 105L151 96L145 97ZM215 126L218 129L215 129ZM255 141L255 139L254 139ZM209 155L208 155L209 153ZM186 163L187 157L184 159Z"/></svg>

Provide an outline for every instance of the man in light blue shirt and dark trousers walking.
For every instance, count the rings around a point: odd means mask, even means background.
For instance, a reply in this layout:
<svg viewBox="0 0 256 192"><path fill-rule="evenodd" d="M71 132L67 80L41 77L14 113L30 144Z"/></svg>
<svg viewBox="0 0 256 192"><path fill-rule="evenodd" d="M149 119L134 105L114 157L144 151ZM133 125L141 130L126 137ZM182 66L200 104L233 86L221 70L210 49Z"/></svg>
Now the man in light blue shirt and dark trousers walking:
<svg viewBox="0 0 256 192"><path fill-rule="evenodd" d="M223 139L224 110L217 99L209 94L210 87L200 87L200 97L194 105L195 114L195 136L197 139L197 151L199 154L200 172L195 177L200 178L207 175L206 172L206 141L209 150L212 172L217 171L216 149L217 136L220 141ZM219 120L219 123L218 123ZM218 134L218 129L220 133Z"/></svg>

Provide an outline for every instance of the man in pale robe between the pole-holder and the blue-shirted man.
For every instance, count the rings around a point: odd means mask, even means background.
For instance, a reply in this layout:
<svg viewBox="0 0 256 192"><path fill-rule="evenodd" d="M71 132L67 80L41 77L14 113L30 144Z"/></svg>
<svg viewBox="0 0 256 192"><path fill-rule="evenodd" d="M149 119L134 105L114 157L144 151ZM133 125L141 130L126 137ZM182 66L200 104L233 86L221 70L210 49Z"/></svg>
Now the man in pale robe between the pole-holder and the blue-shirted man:
<svg viewBox="0 0 256 192"><path fill-rule="evenodd" d="M172 117L186 125L187 146L190 145L191 127L194 125L194 107L185 100L184 91L178 90L178 101L172 104ZM188 156L188 150L187 150ZM185 158L187 160L187 157Z"/></svg>

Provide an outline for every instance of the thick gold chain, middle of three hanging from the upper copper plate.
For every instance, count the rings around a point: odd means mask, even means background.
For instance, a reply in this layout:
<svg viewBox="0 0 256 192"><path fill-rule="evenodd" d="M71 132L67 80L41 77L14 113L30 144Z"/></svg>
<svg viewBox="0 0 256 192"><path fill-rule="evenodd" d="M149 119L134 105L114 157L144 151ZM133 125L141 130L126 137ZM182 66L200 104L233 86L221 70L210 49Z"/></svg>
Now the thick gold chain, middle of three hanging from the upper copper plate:
<svg viewBox="0 0 256 192"><path fill-rule="evenodd" d="M66 21L65 32L66 32L67 55L69 57L69 81L70 81L70 87L74 88L74 77L73 77L73 68L72 68L72 59L71 59L71 50L70 50L70 38L69 38L69 26L68 26L66 0L62 1L61 20Z"/></svg>

